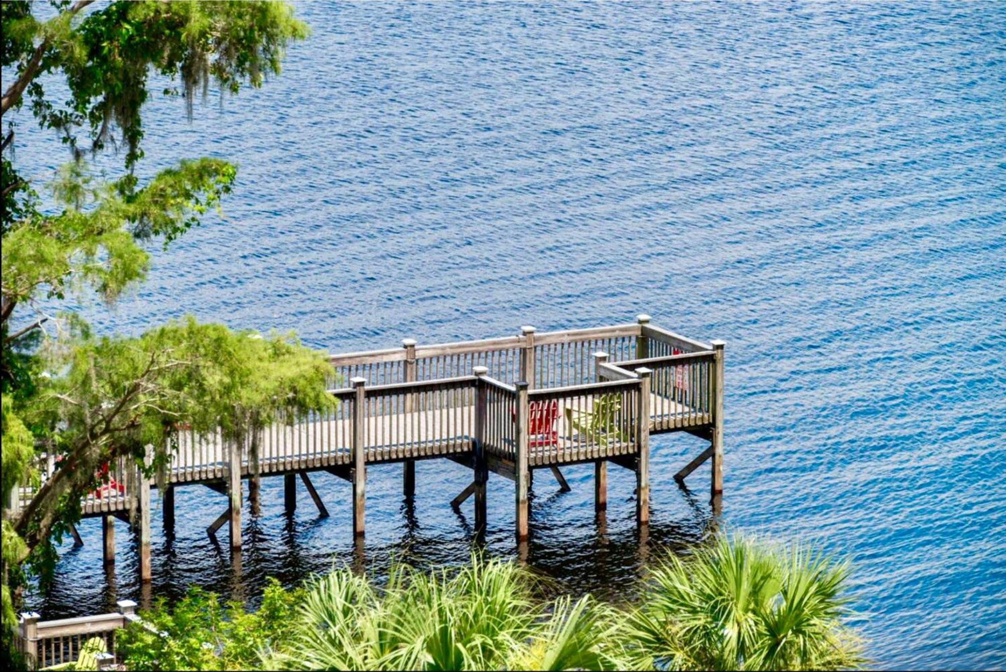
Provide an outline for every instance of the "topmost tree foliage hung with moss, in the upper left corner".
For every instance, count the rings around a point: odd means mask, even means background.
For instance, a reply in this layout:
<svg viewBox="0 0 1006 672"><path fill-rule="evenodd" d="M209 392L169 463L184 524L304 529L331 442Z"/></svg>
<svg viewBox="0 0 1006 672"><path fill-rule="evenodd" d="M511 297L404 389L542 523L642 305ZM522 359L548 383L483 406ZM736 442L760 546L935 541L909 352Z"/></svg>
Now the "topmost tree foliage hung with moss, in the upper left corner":
<svg viewBox="0 0 1006 672"><path fill-rule="evenodd" d="M34 43L41 42L46 48L36 75L59 70L69 87L65 104L55 104L32 77L27 94L39 124L60 132L74 152L78 129L86 129L97 151L118 128L130 167L143 158L140 112L151 72L181 83L191 116L196 93L205 94L211 80L236 94L242 83L258 88L268 74L279 74L288 42L308 32L289 5L276 2L112 2L80 15L62 11L48 21L29 12L21 6L4 11L4 34L10 35L4 64L18 63L22 74Z"/></svg>

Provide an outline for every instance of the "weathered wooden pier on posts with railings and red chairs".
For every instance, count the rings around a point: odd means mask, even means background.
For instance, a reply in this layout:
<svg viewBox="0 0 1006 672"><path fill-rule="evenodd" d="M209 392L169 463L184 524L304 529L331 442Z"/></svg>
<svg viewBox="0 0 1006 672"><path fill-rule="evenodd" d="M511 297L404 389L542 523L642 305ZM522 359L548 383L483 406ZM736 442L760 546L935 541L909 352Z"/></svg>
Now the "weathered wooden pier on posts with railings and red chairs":
<svg viewBox="0 0 1006 672"><path fill-rule="evenodd" d="M708 449L675 479L682 482L711 460L713 500L722 492L723 346L661 329L640 315L613 327L541 334L522 327L505 338L441 345L405 339L400 348L333 355L333 410L266 428L246 445L180 432L162 493L165 525L174 525L175 486L201 484L228 498L207 531L228 524L230 546L239 549L242 481L248 481L253 511L261 479L282 476L289 511L299 478L327 515L310 478L324 471L351 485L353 531L362 535L367 465L401 463L403 492L410 496L415 461L432 459L472 470L472 484L453 503L474 495L477 530L486 525L490 473L513 482L516 533L524 539L533 471L550 470L565 487L560 467L581 463L595 465L598 511L607 506L608 465L635 472L637 520L645 525L653 434L687 432L707 440ZM53 468L50 459L42 478ZM152 480L121 460L110 465L106 485L81 502L83 516L103 518L107 564L115 558L115 518L138 526L144 581L151 578L152 488ZM23 490L21 498L30 495Z"/></svg>

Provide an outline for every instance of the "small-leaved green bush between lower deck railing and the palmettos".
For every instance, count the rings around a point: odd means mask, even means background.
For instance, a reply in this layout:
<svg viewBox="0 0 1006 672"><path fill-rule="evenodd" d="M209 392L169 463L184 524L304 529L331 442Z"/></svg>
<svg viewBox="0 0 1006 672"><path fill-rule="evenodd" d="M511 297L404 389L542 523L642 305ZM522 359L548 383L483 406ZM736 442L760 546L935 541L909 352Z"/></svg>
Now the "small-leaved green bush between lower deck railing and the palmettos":
<svg viewBox="0 0 1006 672"><path fill-rule="evenodd" d="M257 612L240 603L220 604L217 596L190 589L173 610L164 600L143 614L116 640L130 670L248 670L282 643L302 602L303 591L284 591L270 579Z"/></svg>

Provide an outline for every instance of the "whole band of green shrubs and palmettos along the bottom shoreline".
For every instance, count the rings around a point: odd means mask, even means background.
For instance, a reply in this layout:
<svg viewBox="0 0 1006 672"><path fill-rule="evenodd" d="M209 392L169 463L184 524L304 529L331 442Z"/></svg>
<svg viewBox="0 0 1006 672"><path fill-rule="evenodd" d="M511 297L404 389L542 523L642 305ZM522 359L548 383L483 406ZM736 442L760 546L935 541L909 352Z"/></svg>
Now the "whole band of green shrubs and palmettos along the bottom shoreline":
<svg viewBox="0 0 1006 672"><path fill-rule="evenodd" d="M512 561L394 565L380 585L349 568L285 590L254 612L190 589L120 633L130 670L837 670L861 668L845 625L849 563L803 546L719 535L653 562L638 603L542 598Z"/></svg>

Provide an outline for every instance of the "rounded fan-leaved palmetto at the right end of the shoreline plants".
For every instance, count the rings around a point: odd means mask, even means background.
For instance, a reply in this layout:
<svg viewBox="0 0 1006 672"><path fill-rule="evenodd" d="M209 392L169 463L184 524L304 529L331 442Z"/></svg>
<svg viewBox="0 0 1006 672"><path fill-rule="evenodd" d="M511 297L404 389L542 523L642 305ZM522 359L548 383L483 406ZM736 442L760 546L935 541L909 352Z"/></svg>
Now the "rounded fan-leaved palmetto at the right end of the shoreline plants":
<svg viewBox="0 0 1006 672"><path fill-rule="evenodd" d="M635 663L662 669L834 670L865 662L843 625L847 562L720 536L651 571L629 619Z"/></svg>

